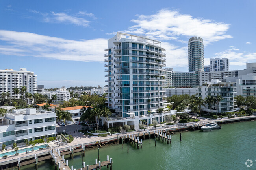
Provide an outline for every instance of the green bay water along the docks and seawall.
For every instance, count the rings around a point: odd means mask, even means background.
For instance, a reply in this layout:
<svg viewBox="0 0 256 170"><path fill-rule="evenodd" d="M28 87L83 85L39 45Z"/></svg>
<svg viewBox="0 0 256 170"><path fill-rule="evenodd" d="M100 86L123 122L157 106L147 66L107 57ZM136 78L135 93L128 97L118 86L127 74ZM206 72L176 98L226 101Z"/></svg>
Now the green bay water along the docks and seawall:
<svg viewBox="0 0 256 170"><path fill-rule="evenodd" d="M143 148L137 149L127 144L100 148L100 161L105 161L107 155L113 159L113 170L242 170L247 169L245 161L251 159L254 165L248 169L256 169L256 121L224 124L222 129L202 132L183 132L172 135L172 143L167 145L154 140L143 141ZM85 162L95 164L98 149L87 150ZM69 166L79 169L82 167L82 156L74 154ZM22 166L21 170L34 169L34 165ZM54 170L54 165L40 162L38 170ZM106 166L102 170L107 170Z"/></svg>

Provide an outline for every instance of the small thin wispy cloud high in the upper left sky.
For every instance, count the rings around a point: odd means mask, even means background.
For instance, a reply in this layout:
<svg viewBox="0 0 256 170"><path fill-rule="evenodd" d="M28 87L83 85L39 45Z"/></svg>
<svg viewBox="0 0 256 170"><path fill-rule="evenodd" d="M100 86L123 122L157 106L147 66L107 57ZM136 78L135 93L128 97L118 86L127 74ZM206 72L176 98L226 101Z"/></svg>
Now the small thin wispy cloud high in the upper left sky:
<svg viewBox="0 0 256 170"><path fill-rule="evenodd" d="M67 13L46 13L44 18L45 22L57 22L57 23L66 23L66 24L75 24L77 26L89 26L90 21L85 20L84 18L78 18L76 16L68 15Z"/></svg>

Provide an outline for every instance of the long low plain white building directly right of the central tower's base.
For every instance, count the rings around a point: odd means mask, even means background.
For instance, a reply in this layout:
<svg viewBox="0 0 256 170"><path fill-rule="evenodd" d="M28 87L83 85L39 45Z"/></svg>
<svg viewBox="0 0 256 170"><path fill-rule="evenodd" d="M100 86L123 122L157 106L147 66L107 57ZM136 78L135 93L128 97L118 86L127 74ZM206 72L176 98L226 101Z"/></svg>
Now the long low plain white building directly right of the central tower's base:
<svg viewBox="0 0 256 170"><path fill-rule="evenodd" d="M198 88L167 88L166 97L171 97L173 95L197 95Z"/></svg>

